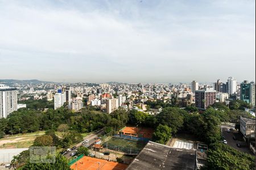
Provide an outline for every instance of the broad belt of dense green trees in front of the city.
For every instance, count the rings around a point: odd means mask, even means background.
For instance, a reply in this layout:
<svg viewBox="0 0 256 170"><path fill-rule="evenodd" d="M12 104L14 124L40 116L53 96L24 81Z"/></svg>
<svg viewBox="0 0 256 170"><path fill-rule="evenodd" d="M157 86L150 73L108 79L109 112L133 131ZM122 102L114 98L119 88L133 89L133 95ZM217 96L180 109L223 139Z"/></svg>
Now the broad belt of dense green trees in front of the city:
<svg viewBox="0 0 256 170"><path fill-rule="evenodd" d="M241 105L239 107L233 107L233 105L237 105L236 103ZM46 130L46 135L35 139L35 146L67 148L73 143L80 141L82 139L82 133L89 133L101 128L105 128L106 133L108 133L112 130L118 131L126 125L138 125L155 129L153 140L162 144L166 143L172 135L179 131L195 135L197 141L202 141L209 145L209 169L214 166L220 167L218 169L225 169L225 166L229 166L232 163L235 166L238 160L242 164L246 164L247 167L250 167L253 163L249 155L239 155L233 148L220 144L221 122L237 123L240 116L251 117L249 113L241 109L241 107L245 107L241 101L234 101L230 104L230 108L224 104L216 103L203 113L199 113L193 106L180 109L174 107L173 104L164 104L160 101L150 103L150 107L152 108L159 108L158 106L163 109L156 116L135 110L127 112L123 109L106 114L96 111L92 107L86 107L79 113L74 113L67 108L57 110L48 109L46 112L36 109L19 109L19 111L13 112L6 119L0 119L0 137L3 137L5 134ZM57 137L56 131L63 138ZM218 153L216 152L217 150L223 150L223 152ZM80 154L84 153L86 155L86 150L82 148L79 152L81 152ZM233 162L232 160L221 158L221 156L229 154L233 155ZM214 158L216 158L216 161L213 161ZM59 159L59 162L64 162L62 158ZM26 164L26 166L34 168L32 164Z"/></svg>

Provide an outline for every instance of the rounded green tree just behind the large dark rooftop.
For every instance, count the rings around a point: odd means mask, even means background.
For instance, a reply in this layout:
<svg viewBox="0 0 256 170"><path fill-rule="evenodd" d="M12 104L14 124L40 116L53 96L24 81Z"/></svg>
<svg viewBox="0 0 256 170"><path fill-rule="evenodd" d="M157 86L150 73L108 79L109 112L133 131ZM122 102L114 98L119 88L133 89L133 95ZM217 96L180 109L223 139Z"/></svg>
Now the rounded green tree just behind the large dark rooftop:
<svg viewBox="0 0 256 170"><path fill-rule="evenodd" d="M171 128L167 125L160 124L153 133L153 140L164 145L172 137L171 132Z"/></svg>

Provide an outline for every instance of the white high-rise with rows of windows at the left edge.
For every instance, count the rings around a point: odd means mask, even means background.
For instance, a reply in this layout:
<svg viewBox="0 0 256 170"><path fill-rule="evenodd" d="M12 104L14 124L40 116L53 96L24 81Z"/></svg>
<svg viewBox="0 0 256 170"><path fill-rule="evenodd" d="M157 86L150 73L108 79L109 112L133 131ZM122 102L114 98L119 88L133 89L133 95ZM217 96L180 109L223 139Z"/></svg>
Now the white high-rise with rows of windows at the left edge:
<svg viewBox="0 0 256 170"><path fill-rule="evenodd" d="M18 91L0 84L0 118L6 118L10 113L17 111Z"/></svg>

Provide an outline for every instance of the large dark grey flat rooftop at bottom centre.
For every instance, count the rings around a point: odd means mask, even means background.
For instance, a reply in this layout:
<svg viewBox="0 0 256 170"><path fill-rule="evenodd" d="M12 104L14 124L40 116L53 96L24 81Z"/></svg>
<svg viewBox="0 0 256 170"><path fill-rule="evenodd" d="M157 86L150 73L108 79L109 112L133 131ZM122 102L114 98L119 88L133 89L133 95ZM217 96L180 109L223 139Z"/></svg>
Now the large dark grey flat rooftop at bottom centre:
<svg viewBox="0 0 256 170"><path fill-rule="evenodd" d="M127 170L136 169L196 169L196 150L186 150L148 142L129 165Z"/></svg>

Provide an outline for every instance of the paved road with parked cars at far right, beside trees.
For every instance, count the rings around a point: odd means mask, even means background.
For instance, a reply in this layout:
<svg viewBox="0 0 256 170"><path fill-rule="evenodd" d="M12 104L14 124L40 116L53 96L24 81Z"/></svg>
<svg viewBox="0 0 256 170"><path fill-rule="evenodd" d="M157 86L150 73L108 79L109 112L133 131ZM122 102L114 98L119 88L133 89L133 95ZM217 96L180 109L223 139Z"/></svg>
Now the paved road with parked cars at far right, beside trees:
<svg viewBox="0 0 256 170"><path fill-rule="evenodd" d="M245 152L247 154L252 154L248 147L237 147L237 143L245 143L245 142L234 141L232 131L230 131L230 132L226 131L229 128L234 128L234 126L229 126L229 125L222 125L221 126L222 135L224 135L226 141L228 142L228 145L235 148L238 151Z"/></svg>

